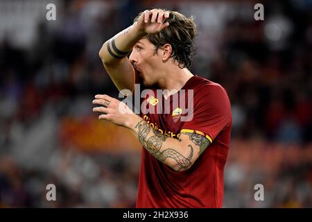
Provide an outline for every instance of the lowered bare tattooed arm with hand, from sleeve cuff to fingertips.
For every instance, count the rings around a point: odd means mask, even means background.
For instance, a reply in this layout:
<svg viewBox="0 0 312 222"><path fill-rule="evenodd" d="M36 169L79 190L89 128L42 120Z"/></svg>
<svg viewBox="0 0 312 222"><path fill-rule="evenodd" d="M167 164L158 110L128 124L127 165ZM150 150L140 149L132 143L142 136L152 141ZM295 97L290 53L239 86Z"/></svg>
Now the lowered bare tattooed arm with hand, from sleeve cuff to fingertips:
<svg viewBox="0 0 312 222"><path fill-rule="evenodd" d="M198 133L182 132L179 139L162 135L133 113L128 105L110 96L96 95L92 103L101 105L93 108L93 111L103 113L98 119L132 130L148 152L175 171L189 169L209 146L209 139Z"/></svg>

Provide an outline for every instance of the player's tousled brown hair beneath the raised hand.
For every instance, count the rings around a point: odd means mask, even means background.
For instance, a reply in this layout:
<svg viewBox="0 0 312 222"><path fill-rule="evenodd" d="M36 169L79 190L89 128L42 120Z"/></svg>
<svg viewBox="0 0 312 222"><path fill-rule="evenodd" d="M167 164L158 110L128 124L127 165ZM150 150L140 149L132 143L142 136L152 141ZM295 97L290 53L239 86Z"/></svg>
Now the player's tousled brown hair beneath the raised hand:
<svg viewBox="0 0 312 222"><path fill-rule="evenodd" d="M187 67L189 69L195 54L193 48L197 35L196 24L193 17L185 17L180 12L168 12L169 17L164 23L168 22L169 26L164 28L160 33L146 35L146 38L155 45L156 53L164 44L170 44L172 47L171 57L177 60L180 68ZM134 22L137 22L137 19L139 19L142 13L139 13Z"/></svg>

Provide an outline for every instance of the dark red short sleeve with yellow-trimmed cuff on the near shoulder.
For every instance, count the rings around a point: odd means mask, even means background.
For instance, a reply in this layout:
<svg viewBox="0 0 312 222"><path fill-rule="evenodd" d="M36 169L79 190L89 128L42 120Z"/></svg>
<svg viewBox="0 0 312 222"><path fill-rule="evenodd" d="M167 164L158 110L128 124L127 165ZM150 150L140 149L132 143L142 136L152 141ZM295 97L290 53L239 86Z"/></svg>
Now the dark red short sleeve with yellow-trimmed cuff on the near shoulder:
<svg viewBox="0 0 312 222"><path fill-rule="evenodd" d="M231 105L225 89L218 84L200 87L193 98L193 119L181 133L198 133L212 142L232 122Z"/></svg>

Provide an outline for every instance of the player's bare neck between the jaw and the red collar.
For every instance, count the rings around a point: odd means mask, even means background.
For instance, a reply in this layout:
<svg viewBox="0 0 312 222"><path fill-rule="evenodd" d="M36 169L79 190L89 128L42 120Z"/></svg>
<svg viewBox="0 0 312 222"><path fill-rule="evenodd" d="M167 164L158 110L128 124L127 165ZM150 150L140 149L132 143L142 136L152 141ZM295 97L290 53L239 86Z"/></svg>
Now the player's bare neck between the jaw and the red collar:
<svg viewBox="0 0 312 222"><path fill-rule="evenodd" d="M164 70L162 78L159 78L158 86L160 89L168 89L169 92L164 94L165 97L171 96L174 91L179 91L185 83L193 76L189 69L180 67L171 67ZM171 92L172 91L172 92Z"/></svg>

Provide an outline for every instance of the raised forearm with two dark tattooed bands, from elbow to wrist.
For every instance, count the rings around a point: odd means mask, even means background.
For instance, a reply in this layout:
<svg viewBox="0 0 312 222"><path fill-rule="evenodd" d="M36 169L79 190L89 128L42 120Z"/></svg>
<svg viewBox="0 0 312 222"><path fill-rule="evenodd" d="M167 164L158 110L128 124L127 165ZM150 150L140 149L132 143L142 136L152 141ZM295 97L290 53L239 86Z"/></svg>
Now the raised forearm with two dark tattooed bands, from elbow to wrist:
<svg viewBox="0 0 312 222"><path fill-rule="evenodd" d="M101 60L107 65L119 62L126 56L125 53L131 51L135 43L144 35L146 34L139 30L137 24L129 26L103 44L99 52Z"/></svg>

